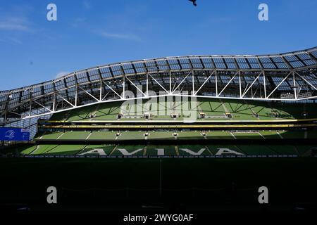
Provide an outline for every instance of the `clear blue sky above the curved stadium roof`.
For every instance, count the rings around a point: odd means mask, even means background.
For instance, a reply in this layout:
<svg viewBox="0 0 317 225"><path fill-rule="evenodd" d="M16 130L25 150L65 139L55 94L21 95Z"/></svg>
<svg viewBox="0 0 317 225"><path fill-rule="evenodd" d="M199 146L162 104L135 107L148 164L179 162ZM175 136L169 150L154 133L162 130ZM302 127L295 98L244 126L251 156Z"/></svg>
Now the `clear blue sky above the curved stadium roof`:
<svg viewBox="0 0 317 225"><path fill-rule="evenodd" d="M46 20L46 6L58 20ZM258 20L268 4L269 21ZM317 0L0 0L0 90L96 65L317 46Z"/></svg>

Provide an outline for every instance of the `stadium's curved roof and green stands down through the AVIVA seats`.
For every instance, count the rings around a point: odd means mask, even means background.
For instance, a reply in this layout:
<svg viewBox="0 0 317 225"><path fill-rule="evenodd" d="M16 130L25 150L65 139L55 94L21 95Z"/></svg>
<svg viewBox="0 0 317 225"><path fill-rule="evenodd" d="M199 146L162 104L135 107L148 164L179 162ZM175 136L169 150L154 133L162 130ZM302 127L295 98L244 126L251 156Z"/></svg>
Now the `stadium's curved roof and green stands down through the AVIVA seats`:
<svg viewBox="0 0 317 225"><path fill-rule="evenodd" d="M1 124L30 129L32 145L13 148L23 155L157 155L157 141L172 143L159 155L217 155L226 146L213 146L215 140L316 139L316 57L313 48L89 68L1 91ZM189 140L206 144L188 150L182 141ZM226 149L305 155L314 146L249 148Z"/></svg>

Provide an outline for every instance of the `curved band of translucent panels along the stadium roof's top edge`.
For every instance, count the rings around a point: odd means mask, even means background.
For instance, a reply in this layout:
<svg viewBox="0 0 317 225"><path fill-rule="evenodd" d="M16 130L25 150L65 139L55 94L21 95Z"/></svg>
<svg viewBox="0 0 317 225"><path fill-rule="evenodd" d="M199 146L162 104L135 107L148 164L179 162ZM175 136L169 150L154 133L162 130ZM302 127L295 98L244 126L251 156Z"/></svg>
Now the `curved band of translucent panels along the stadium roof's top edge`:
<svg viewBox="0 0 317 225"><path fill-rule="evenodd" d="M144 74L146 72L161 72L168 70L292 70L317 66L317 47L304 51L282 53L267 56L178 56L167 58L154 58L148 60L136 60L125 63L113 63L73 72L64 77L25 86L20 89L0 91L0 94L8 94L23 89L31 89L34 86L44 86L44 94L52 89L63 89L78 84L94 82L98 79L111 79L123 75ZM49 86L53 83L53 86ZM55 87L54 87L55 86ZM47 90L46 90L47 89Z"/></svg>

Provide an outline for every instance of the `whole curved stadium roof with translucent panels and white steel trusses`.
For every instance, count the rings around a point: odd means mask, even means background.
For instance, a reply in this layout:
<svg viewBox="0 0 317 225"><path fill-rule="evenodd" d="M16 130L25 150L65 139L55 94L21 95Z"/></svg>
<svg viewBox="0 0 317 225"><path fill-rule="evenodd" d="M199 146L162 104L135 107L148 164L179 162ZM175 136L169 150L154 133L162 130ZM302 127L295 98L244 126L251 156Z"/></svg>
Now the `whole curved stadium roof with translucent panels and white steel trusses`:
<svg viewBox="0 0 317 225"><path fill-rule="evenodd" d="M99 103L158 96L311 102L316 91L317 47L262 56L155 58L0 91L0 122L2 127L30 128L34 136L39 118Z"/></svg>

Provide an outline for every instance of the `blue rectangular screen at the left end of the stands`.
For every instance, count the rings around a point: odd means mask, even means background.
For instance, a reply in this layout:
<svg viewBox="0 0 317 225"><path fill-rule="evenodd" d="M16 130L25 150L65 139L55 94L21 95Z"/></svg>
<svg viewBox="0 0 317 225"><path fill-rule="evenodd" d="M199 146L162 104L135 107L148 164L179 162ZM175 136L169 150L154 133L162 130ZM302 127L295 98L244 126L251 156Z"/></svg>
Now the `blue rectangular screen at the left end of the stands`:
<svg viewBox="0 0 317 225"><path fill-rule="evenodd" d="M0 127L0 141L29 141L30 130L23 128Z"/></svg>

